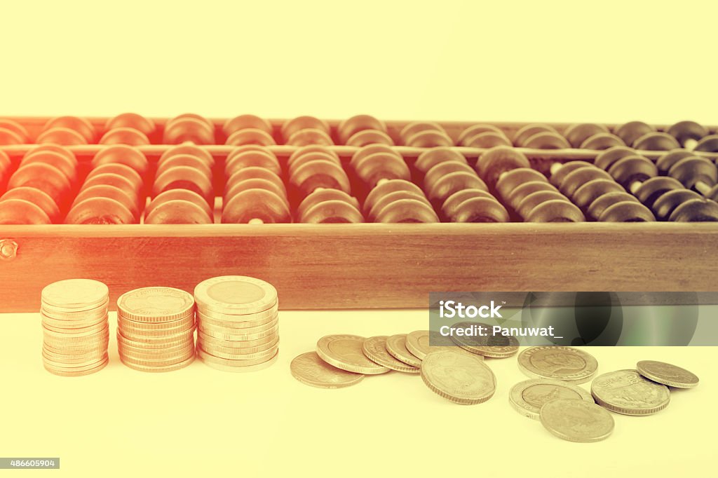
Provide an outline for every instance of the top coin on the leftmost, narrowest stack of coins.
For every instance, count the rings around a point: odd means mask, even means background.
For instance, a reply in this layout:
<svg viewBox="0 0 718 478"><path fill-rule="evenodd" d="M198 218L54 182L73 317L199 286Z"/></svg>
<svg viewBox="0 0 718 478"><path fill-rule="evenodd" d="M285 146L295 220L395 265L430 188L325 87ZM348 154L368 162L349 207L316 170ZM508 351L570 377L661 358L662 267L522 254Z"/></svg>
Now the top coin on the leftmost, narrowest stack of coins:
<svg viewBox="0 0 718 478"><path fill-rule="evenodd" d="M42 302L55 311L85 311L107 301L109 289L100 281L68 279L42 289Z"/></svg>

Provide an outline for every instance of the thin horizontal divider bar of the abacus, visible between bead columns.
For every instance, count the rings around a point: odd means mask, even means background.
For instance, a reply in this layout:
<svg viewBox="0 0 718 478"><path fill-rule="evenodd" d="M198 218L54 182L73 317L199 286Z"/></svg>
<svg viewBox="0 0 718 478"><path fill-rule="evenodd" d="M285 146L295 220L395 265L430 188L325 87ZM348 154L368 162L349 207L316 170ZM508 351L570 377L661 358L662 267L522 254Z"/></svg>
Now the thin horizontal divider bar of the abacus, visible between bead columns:
<svg viewBox="0 0 718 478"><path fill-rule="evenodd" d="M0 151L4 151L9 156L22 156L27 153L27 151L30 151L31 149L37 147L39 145L37 144L14 144L10 146L0 146ZM102 151L103 149L106 149L110 147L111 145L103 145L103 144L86 144L86 145L80 145L80 146L66 146L67 149L70 149L70 151L75 154L75 156L94 156L99 151ZM139 149L142 153L145 154L145 156L148 156L148 158L154 158L159 157L164 153L164 151L167 151L167 149L173 148L174 146L177 146L176 144L150 144L145 146L135 146L136 149ZM212 154L215 157L226 157L228 154L230 154L232 151L234 151L238 146L228 146L225 144L209 144L209 145L197 145L200 146L203 149L206 149L210 154ZM290 145L274 145L274 146L265 146L266 149L269 149L269 151L272 151L274 154L278 156L289 156L294 151L297 151L300 146L290 146ZM358 151L360 148L357 146L327 146L328 149L331 151L335 151L335 153L339 154L340 156L344 157L350 157L352 156L356 151ZM419 148L414 146L392 146L392 149L401 156L404 156L404 158L416 158L419 156L419 154L423 153L424 151L429 150L429 148ZM454 151L457 151L461 154L463 154L468 159L475 159L481 154L484 154L486 151L489 150L489 148L473 148L473 147L467 147L467 146L451 146L451 149ZM529 159L541 159L541 160L548 160L548 161L574 161L574 160L585 160L585 161L593 161L596 156L601 154L602 150L595 150L595 149L536 149L536 148L514 148L516 151L519 151L523 154L525 154ZM640 154L641 156L644 156L651 160L656 160L659 157L663 156L663 154L666 154L666 151L647 151L647 150L636 150L636 154ZM707 152L707 151L694 151L693 154L696 156L702 156L707 159L711 159L712 161L715 161L718 159L718 153L713 152Z"/></svg>

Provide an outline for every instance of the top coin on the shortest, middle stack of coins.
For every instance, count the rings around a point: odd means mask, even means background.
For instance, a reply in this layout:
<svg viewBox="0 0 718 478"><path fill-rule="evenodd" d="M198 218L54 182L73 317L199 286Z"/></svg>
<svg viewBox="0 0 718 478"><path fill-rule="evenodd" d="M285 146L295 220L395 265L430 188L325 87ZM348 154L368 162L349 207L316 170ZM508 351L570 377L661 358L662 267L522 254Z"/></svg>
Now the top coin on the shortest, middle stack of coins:
<svg viewBox="0 0 718 478"><path fill-rule="evenodd" d="M194 310L192 294L172 287L144 287L117 299L118 314L135 322L172 322L185 319Z"/></svg>

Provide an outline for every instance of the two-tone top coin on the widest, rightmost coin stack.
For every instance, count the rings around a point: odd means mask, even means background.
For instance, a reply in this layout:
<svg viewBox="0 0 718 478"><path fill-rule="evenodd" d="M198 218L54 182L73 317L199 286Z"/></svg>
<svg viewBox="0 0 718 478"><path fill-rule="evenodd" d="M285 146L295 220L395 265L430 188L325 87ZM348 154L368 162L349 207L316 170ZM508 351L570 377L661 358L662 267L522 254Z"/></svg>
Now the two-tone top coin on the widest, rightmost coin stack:
<svg viewBox="0 0 718 478"><path fill-rule="evenodd" d="M277 300L270 283L246 276L220 276L195 287L195 300L202 309L220 314L252 314L269 309Z"/></svg>

